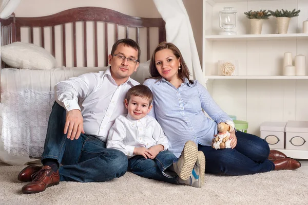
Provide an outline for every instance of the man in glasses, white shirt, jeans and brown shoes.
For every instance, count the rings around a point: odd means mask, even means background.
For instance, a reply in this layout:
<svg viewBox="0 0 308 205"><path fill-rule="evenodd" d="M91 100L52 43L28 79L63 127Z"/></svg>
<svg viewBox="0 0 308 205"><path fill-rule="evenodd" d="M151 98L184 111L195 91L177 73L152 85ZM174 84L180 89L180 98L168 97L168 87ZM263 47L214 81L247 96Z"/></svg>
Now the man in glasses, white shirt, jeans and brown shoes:
<svg viewBox="0 0 308 205"><path fill-rule="evenodd" d="M59 181L109 181L127 171L126 156L107 149L115 118L127 113L124 98L138 85L130 79L137 71L140 48L130 39L114 43L110 67L55 85L55 103L49 117L42 155L43 167L30 165L18 175L23 193L38 193Z"/></svg>

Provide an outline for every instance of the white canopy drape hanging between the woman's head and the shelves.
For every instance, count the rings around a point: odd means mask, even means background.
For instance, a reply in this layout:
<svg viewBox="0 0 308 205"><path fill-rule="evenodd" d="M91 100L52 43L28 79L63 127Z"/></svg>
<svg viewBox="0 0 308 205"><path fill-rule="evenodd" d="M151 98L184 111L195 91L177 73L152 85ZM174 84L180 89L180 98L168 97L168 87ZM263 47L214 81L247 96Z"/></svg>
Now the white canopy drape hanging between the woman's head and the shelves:
<svg viewBox="0 0 308 205"><path fill-rule="evenodd" d="M206 87L194 33L192 33L189 17L182 0L153 0L153 2L166 22L167 42L175 44L180 49L192 78Z"/></svg>

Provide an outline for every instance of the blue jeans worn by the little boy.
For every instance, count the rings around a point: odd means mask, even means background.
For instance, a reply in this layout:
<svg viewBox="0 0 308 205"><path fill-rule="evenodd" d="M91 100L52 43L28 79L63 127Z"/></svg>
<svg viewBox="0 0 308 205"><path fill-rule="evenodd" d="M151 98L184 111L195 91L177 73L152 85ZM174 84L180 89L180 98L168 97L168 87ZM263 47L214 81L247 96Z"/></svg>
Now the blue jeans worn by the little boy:
<svg viewBox="0 0 308 205"><path fill-rule="evenodd" d="M137 155L128 159L128 171L148 179L178 184L177 173L167 170L177 160L169 151L158 153L155 159L145 159Z"/></svg>

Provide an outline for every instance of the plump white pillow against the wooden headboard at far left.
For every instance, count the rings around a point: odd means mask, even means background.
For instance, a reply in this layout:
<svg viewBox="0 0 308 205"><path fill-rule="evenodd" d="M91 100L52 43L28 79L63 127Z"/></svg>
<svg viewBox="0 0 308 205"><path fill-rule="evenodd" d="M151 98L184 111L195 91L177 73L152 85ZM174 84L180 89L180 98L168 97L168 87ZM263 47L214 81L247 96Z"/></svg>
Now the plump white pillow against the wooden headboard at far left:
<svg viewBox="0 0 308 205"><path fill-rule="evenodd" d="M2 46L1 58L13 68L49 70L57 66L55 58L47 50L22 42Z"/></svg>

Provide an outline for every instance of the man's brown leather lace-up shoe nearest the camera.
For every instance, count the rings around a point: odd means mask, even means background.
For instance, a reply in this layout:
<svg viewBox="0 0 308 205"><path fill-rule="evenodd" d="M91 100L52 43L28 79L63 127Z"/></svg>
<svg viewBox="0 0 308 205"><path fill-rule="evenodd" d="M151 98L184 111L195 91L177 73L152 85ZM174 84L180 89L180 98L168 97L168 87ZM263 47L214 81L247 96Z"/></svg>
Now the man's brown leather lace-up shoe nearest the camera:
<svg viewBox="0 0 308 205"><path fill-rule="evenodd" d="M59 170L54 172L50 166L43 166L33 177L34 179L22 188L23 193L33 194L43 192L47 187L57 185L60 181Z"/></svg>

